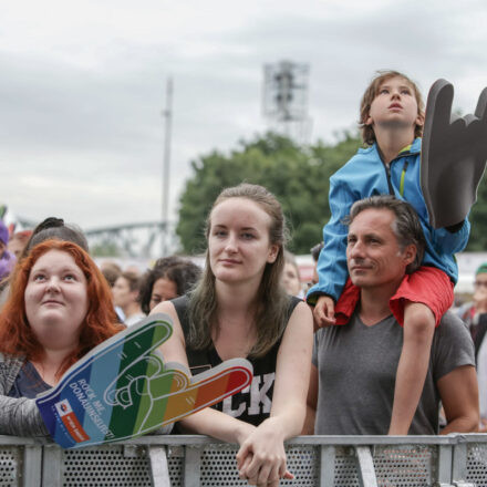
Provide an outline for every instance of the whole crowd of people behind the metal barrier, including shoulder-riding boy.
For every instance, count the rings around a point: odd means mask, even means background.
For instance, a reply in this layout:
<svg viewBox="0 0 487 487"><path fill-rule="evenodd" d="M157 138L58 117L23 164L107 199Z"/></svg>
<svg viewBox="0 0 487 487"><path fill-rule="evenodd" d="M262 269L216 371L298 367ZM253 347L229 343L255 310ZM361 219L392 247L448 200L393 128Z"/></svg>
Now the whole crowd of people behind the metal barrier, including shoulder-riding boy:
<svg viewBox="0 0 487 487"><path fill-rule="evenodd" d="M203 268L170 256L144 274L115 262L99 269L82 231L62 219L11 236L0 222L0 434L46 436L35 395L158 312L174 323L166 361L194 375L251 362L247 388L174 429L237 443L249 484L291 478L284 441L299 434L484 431L487 263L473 303L454 313L454 253L469 222L428 222L421 93L404 74L381 72L360 113L367 147L331 178L332 215L311 249L308 290L286 249L281 205L258 185L224 188L215 200Z"/></svg>

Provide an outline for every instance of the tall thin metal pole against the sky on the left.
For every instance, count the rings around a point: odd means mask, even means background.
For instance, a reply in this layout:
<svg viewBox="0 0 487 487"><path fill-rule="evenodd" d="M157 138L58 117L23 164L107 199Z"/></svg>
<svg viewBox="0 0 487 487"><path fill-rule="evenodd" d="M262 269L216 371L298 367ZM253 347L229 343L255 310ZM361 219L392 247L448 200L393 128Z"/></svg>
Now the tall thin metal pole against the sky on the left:
<svg viewBox="0 0 487 487"><path fill-rule="evenodd" d="M170 176L170 129L173 122L173 79L169 76L166 83L166 110L163 112L165 118L164 134L164 159L163 159L163 232L160 235L160 257L167 255L167 231L169 213L169 176Z"/></svg>

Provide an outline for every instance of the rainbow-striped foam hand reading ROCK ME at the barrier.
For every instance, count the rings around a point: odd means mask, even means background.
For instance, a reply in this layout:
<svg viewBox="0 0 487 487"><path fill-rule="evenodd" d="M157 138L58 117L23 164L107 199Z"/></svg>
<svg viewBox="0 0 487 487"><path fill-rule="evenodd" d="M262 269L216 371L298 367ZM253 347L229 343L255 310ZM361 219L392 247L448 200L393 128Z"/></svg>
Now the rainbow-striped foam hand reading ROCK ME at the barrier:
<svg viewBox="0 0 487 487"><path fill-rule="evenodd" d="M197 377L165 364L156 350L172 334L172 320L154 314L112 336L71 366L37 405L52 438L64 448L139 436L222 401L250 384L244 359Z"/></svg>

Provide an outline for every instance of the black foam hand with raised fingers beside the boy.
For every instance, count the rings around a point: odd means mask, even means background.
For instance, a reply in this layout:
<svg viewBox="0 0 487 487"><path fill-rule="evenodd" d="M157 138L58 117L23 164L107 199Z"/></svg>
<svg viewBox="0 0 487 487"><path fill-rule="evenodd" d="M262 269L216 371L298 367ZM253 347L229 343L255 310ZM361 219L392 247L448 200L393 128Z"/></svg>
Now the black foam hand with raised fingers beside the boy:
<svg viewBox="0 0 487 487"><path fill-rule="evenodd" d="M426 104L421 186L434 228L462 222L477 199L487 160L487 87L475 115L452 114L453 85L433 83Z"/></svg>

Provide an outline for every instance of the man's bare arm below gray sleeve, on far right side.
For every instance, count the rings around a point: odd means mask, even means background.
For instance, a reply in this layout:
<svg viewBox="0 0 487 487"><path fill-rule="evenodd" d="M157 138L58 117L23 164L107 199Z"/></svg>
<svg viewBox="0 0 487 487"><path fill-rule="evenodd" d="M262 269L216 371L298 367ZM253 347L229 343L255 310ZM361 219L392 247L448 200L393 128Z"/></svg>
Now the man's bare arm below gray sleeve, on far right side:
<svg viewBox="0 0 487 487"><path fill-rule="evenodd" d="M478 431L478 385L475 367L462 365L439 379L436 385L447 422L442 435Z"/></svg>

